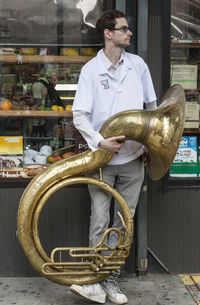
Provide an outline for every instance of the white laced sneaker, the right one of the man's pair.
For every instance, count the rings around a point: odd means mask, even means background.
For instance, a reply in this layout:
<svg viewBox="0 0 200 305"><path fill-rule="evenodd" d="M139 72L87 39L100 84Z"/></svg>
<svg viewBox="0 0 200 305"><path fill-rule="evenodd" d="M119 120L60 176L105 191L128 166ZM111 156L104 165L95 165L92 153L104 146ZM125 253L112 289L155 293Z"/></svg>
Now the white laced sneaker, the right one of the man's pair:
<svg viewBox="0 0 200 305"><path fill-rule="evenodd" d="M109 300L115 304L126 304L128 299L119 289L118 283L115 280L104 280L101 286L107 294Z"/></svg>

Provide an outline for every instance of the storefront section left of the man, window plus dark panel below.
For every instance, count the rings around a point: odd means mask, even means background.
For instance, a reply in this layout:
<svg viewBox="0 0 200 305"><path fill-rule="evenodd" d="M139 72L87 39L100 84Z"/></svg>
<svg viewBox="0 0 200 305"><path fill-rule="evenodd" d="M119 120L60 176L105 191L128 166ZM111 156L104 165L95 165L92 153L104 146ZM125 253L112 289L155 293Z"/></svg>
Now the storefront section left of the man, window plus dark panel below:
<svg viewBox="0 0 200 305"><path fill-rule="evenodd" d="M37 273L17 239L20 198L44 168L87 149L73 127L71 108L81 67L102 47L96 19L104 10L117 8L129 12L136 28L136 3L21 0L2 1L0 7L0 274L31 276ZM56 192L39 221L46 253L58 245L87 245L89 216L86 186Z"/></svg>

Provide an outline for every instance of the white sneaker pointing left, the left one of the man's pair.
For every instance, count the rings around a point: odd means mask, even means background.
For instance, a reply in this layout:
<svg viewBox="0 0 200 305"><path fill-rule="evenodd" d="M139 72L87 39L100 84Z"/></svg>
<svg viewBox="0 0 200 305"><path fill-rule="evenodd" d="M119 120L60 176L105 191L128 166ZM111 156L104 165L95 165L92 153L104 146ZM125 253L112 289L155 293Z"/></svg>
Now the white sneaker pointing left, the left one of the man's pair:
<svg viewBox="0 0 200 305"><path fill-rule="evenodd" d="M69 289L74 294L97 303L104 304L106 301L106 293L98 283L83 286L73 284Z"/></svg>

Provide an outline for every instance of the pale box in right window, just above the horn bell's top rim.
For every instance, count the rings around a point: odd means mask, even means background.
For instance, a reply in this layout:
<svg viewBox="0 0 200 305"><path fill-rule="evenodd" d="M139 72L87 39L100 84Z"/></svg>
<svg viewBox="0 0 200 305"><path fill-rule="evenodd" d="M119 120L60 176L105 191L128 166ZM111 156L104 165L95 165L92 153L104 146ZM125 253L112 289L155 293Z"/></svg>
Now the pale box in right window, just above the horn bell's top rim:
<svg viewBox="0 0 200 305"><path fill-rule="evenodd" d="M184 89L197 89L198 65L171 65L171 84Z"/></svg>

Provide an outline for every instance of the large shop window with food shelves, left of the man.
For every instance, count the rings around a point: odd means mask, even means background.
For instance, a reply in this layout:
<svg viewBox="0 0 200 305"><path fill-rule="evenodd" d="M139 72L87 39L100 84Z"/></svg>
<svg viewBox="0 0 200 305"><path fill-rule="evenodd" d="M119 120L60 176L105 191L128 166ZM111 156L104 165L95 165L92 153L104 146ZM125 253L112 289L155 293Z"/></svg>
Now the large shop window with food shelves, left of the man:
<svg viewBox="0 0 200 305"><path fill-rule="evenodd" d="M1 1L1 181L32 178L87 149L71 109L80 70L102 47L96 20L114 7L103 0Z"/></svg>

